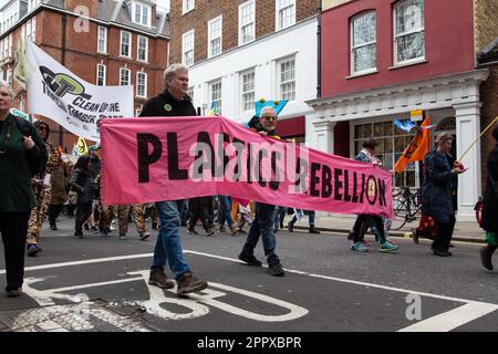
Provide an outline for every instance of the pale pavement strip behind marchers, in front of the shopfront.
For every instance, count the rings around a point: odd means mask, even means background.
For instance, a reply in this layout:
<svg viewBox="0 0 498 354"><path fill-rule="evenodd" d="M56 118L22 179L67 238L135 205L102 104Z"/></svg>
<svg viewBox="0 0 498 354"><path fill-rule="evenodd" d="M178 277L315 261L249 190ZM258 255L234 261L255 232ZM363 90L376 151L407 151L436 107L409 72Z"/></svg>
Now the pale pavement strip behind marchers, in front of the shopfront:
<svg viewBox="0 0 498 354"><path fill-rule="evenodd" d="M290 220L291 216L286 216L284 225ZM356 216L338 215L338 216L317 216L315 227L325 232L349 233L353 227ZM388 236L394 238L412 238L413 230L418 226L419 219L407 222L400 230L390 230ZM295 222L294 229L308 230L308 216ZM457 221L453 240L464 242L485 243L485 232L476 221Z"/></svg>

